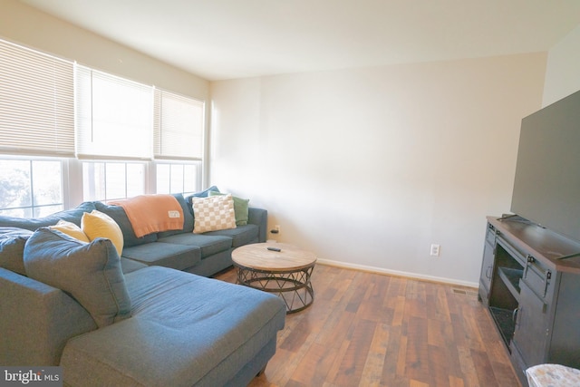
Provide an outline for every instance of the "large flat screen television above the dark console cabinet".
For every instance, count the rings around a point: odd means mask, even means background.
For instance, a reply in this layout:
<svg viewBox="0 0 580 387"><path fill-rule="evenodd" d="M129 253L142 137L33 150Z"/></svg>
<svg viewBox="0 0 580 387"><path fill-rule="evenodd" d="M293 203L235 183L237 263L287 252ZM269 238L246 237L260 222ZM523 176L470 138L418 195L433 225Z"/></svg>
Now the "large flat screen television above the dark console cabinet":
<svg viewBox="0 0 580 387"><path fill-rule="evenodd" d="M580 241L580 92L522 120L510 210Z"/></svg>

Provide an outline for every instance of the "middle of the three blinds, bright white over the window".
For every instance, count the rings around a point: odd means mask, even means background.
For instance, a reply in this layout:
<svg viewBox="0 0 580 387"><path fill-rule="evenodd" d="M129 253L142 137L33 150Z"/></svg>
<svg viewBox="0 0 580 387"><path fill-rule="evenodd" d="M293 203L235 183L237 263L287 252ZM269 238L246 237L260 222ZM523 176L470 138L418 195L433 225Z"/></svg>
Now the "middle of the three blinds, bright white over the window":
<svg viewBox="0 0 580 387"><path fill-rule="evenodd" d="M77 157L150 160L153 87L76 66Z"/></svg>

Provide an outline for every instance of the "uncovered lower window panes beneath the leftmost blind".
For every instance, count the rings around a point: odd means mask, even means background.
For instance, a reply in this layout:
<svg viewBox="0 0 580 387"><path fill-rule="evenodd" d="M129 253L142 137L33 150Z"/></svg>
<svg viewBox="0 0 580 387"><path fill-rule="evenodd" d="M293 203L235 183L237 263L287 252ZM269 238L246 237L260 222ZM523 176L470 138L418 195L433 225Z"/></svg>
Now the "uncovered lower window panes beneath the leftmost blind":
<svg viewBox="0 0 580 387"><path fill-rule="evenodd" d="M62 160L0 160L0 214L43 217L63 209Z"/></svg>

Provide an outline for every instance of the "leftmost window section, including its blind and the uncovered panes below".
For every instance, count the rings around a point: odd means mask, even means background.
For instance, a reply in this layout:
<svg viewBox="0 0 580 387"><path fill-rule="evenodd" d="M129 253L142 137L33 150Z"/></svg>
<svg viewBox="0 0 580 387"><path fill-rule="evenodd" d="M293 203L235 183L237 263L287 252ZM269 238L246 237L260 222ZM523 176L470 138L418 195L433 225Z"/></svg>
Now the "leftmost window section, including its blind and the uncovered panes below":
<svg viewBox="0 0 580 387"><path fill-rule="evenodd" d="M62 157L74 155L72 61L0 40L0 214L63 209ZM42 156L46 159L36 158Z"/></svg>

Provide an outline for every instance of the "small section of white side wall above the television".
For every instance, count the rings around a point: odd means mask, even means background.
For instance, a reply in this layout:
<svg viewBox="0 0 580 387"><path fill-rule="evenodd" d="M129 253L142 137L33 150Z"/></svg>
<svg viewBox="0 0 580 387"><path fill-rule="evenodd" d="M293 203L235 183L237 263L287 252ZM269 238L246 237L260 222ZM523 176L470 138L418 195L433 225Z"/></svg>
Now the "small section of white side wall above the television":
<svg viewBox="0 0 580 387"><path fill-rule="evenodd" d="M543 106L580 90L580 25L548 52Z"/></svg>

